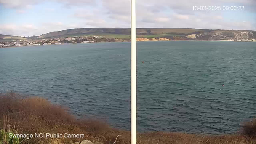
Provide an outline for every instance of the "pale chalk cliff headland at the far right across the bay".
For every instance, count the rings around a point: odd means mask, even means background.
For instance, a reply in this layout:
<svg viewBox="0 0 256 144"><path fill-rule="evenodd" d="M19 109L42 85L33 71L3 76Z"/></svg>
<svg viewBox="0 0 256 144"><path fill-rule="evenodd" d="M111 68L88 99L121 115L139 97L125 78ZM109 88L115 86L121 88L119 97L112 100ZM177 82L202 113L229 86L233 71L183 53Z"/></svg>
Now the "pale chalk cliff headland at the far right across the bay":
<svg viewBox="0 0 256 144"><path fill-rule="evenodd" d="M250 30L209 30L186 36L194 40L256 41L256 31Z"/></svg>

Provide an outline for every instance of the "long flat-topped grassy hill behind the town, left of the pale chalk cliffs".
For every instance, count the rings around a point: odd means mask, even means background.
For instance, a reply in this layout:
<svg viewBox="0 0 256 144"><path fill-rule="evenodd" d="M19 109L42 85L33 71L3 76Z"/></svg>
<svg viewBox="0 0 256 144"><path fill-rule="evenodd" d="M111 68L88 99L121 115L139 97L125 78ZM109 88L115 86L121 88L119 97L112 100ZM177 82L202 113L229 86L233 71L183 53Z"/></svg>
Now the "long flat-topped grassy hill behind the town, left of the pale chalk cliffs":
<svg viewBox="0 0 256 144"><path fill-rule="evenodd" d="M138 37L149 38L173 35L184 36L198 31L202 30L190 28L137 28L137 35ZM38 38L59 38L82 35L97 35L106 38L130 38L130 33L130 28L76 28L59 32L50 32L38 36Z"/></svg>

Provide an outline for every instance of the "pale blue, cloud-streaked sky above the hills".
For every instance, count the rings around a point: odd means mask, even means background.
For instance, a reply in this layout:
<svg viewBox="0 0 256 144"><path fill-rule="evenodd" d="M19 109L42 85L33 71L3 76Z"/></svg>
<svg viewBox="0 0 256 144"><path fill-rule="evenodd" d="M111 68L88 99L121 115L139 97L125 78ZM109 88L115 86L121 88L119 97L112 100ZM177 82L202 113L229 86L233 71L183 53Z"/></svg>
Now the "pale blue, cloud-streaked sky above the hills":
<svg viewBox="0 0 256 144"><path fill-rule="evenodd" d="M71 28L129 28L130 3L0 0L0 34L39 36ZM221 10L196 11L193 6L220 6ZM223 6L237 10L223 10ZM238 10L239 6L244 10ZM256 0L136 0L136 27L256 30Z"/></svg>

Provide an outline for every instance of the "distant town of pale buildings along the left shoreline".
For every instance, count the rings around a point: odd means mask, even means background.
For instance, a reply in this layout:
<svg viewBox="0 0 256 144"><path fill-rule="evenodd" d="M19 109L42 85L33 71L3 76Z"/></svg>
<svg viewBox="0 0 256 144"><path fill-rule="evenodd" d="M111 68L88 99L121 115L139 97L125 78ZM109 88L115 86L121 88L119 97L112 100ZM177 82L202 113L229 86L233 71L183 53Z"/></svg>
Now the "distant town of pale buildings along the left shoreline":
<svg viewBox="0 0 256 144"><path fill-rule="evenodd" d="M0 48L11 46L28 46L28 45L49 45L49 44L67 44L67 43L95 43L95 42L115 42L115 38L102 38L101 36L74 36L66 38L53 38L42 40L11 40L1 42Z"/></svg>

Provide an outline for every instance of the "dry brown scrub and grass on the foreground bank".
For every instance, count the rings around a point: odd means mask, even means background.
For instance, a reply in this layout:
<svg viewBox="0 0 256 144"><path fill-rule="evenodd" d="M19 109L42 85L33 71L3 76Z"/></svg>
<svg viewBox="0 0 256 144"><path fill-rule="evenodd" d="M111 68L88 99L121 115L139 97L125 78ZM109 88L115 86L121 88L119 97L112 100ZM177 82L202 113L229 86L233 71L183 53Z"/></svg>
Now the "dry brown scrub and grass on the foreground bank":
<svg viewBox="0 0 256 144"><path fill-rule="evenodd" d="M111 128L96 120L78 120L67 108L39 97L0 94L0 128L15 127L18 134L84 134L85 138L30 138L23 144L68 144L89 139L94 144L130 144L130 132ZM172 132L138 133L138 144L256 144L255 120L246 123L244 134L206 136ZM120 136L118 136L120 135Z"/></svg>

